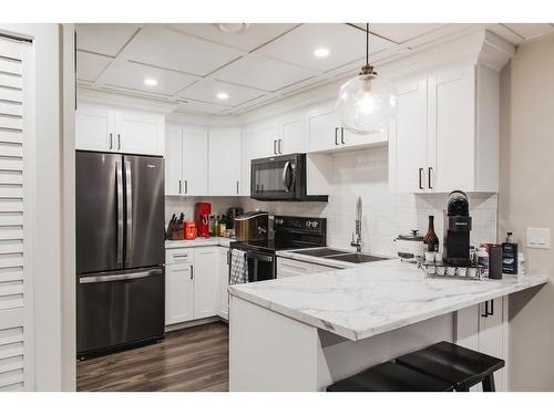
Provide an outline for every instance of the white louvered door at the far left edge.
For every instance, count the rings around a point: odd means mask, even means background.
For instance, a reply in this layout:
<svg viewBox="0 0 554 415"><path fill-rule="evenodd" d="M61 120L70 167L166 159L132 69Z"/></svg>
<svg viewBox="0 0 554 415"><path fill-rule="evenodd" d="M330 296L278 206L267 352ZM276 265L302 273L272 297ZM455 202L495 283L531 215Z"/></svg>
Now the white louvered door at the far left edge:
<svg viewBox="0 0 554 415"><path fill-rule="evenodd" d="M32 390L25 64L31 44L0 35L0 391ZM27 87L27 86L25 86Z"/></svg>

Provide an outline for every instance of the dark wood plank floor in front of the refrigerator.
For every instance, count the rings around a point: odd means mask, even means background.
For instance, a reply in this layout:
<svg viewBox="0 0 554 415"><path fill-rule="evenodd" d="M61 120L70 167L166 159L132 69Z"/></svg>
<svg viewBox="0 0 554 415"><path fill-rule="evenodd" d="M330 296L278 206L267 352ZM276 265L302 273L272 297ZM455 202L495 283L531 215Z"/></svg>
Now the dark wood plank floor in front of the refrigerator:
<svg viewBox="0 0 554 415"><path fill-rule="evenodd" d="M167 333L161 343L76 365L78 391L228 391L228 328L216 322Z"/></svg>

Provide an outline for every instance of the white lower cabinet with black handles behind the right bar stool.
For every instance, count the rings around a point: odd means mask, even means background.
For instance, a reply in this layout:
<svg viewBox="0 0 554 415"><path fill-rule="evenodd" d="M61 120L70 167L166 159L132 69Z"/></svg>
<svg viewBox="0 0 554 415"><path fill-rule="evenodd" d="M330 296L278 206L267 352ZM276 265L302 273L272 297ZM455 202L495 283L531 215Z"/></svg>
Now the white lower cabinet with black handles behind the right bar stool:
<svg viewBox="0 0 554 415"><path fill-rule="evenodd" d="M509 370L509 318L507 295L472 305L456 312L455 336L456 343L503 359L506 364L494 373L496 391L507 391ZM475 385L472 391L481 391Z"/></svg>

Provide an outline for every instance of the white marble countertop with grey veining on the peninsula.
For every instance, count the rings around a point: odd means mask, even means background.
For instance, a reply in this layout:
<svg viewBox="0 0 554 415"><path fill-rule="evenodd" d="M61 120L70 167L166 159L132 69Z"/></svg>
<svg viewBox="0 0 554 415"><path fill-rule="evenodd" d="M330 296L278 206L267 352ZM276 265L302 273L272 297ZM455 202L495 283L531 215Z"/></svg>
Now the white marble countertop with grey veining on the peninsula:
<svg viewBox="0 0 554 415"><path fill-rule="evenodd" d="M398 259L229 287L232 295L350 340L361 340L531 287L546 276L425 279Z"/></svg>

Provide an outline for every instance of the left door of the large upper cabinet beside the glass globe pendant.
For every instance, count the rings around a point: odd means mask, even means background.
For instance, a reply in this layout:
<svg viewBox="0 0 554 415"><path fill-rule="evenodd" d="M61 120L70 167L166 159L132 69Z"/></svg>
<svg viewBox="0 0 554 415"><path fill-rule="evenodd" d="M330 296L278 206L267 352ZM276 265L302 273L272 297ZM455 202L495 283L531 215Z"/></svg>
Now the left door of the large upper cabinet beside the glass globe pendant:
<svg viewBox="0 0 554 415"><path fill-rule="evenodd" d="M400 83L394 135L389 146L392 189L398 193L425 190L428 108L427 79Z"/></svg>

